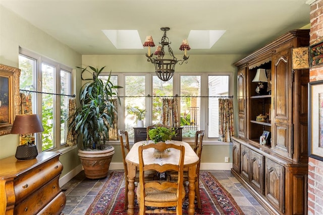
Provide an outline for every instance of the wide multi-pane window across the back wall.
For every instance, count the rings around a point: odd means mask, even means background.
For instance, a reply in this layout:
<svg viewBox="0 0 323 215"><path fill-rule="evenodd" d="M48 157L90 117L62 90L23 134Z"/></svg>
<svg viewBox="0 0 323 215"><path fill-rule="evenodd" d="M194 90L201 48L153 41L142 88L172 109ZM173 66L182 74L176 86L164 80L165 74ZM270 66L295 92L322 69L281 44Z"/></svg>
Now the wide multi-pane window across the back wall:
<svg viewBox="0 0 323 215"><path fill-rule="evenodd" d="M137 126L132 107L145 109L145 126L160 123L162 99L176 95L180 96L183 138L193 138L201 129L205 130L205 140L219 137L219 98L232 96L233 73L175 73L168 82L153 73L114 75L118 76L118 85L123 86L118 91L118 118L123 119L118 121L118 128L127 130L129 137L134 136L133 127Z"/></svg>

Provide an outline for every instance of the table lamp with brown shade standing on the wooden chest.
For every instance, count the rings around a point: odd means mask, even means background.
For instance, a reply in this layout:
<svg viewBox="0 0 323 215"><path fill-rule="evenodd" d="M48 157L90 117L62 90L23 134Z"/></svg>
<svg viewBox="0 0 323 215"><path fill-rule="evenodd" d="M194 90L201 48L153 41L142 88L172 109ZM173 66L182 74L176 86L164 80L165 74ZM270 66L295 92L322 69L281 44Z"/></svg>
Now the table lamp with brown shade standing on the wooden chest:
<svg viewBox="0 0 323 215"><path fill-rule="evenodd" d="M20 161L31 160L37 157L37 147L32 140L32 134L44 131L37 114L16 115L11 132L13 134L26 134L23 137L23 145L17 147L16 159Z"/></svg>

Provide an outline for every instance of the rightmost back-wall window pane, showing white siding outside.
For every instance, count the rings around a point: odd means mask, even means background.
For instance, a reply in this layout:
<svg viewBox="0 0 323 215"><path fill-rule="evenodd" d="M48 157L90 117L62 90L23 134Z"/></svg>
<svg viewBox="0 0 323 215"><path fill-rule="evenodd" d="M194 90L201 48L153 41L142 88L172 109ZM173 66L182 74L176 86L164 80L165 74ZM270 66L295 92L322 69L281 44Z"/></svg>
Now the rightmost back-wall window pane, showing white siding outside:
<svg viewBox="0 0 323 215"><path fill-rule="evenodd" d="M229 96L229 76L208 76L208 96ZM208 98L208 137L219 137L219 98Z"/></svg>

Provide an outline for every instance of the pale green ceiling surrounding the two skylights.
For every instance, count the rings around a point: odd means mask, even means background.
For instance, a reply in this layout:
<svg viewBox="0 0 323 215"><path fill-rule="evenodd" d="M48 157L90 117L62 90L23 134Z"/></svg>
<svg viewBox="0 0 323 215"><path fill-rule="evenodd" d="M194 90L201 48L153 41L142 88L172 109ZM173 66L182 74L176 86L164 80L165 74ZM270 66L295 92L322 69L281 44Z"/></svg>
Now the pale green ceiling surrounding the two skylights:
<svg viewBox="0 0 323 215"><path fill-rule="evenodd" d="M188 54L248 54L308 26L308 0L0 0L0 4L80 54L144 54L117 49L102 30L138 30L141 43L167 36L175 54L190 30L225 30L210 49ZM190 42L190 41L188 41ZM191 45L192 46L192 45Z"/></svg>

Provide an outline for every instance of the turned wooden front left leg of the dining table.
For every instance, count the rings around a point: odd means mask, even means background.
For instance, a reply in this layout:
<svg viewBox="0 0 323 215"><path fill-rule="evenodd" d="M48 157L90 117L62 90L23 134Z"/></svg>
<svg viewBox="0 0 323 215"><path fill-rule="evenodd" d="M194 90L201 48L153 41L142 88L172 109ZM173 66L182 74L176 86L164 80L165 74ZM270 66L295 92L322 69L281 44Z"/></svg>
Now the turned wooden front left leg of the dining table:
<svg viewBox="0 0 323 215"><path fill-rule="evenodd" d="M129 215L133 215L135 213L135 177L136 177L136 166L132 164L127 164L128 167L128 211ZM127 195L127 193L125 193Z"/></svg>

